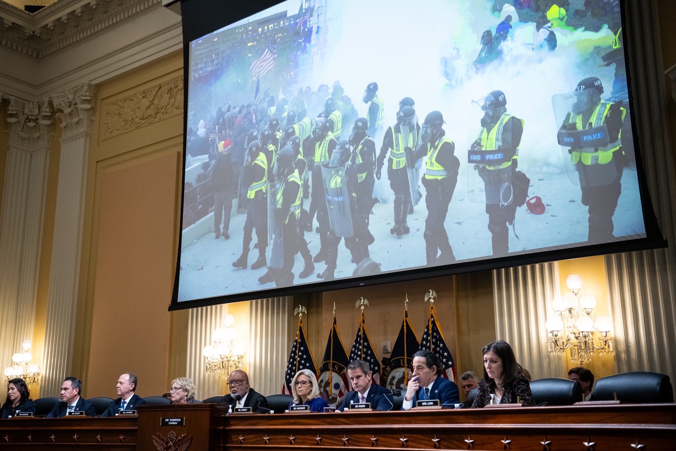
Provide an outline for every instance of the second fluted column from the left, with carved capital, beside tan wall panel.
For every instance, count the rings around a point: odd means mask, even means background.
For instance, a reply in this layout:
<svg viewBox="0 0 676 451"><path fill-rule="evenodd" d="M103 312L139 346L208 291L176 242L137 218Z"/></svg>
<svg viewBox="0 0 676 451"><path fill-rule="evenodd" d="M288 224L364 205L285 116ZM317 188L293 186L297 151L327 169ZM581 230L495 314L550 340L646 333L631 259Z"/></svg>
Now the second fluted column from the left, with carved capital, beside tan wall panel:
<svg viewBox="0 0 676 451"><path fill-rule="evenodd" d="M62 138L47 294L41 389L45 394L59 391L72 364L93 89L85 83L53 97L56 118L61 121Z"/></svg>

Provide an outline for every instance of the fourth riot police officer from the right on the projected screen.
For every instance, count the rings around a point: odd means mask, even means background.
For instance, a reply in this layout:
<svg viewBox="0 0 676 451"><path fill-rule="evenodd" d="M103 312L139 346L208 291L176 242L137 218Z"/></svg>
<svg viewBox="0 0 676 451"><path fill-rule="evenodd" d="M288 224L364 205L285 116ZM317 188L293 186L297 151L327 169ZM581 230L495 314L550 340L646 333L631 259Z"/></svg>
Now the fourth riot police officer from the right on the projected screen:
<svg viewBox="0 0 676 451"><path fill-rule="evenodd" d="M408 97L410 98L410 97ZM385 162L385 155L389 150L387 158L387 178L389 185L394 191L394 226L390 229L391 234L402 236L410 232L406 217L412 206L411 191L412 185L409 181L409 172L413 173L415 161L413 152L418 148L418 139L420 137L420 125L416 121L416 112L410 105L403 105L397 113L397 123L387 129L383 138L383 145L378 156L377 176L380 173ZM408 156L408 158L407 158ZM417 180L412 181L417 190ZM417 193L416 193L417 194Z"/></svg>

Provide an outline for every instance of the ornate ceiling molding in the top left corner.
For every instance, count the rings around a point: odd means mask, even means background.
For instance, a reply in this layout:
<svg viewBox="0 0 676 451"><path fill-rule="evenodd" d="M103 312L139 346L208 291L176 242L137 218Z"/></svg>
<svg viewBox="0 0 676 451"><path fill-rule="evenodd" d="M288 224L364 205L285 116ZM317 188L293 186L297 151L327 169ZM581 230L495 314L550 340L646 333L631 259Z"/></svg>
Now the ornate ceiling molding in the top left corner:
<svg viewBox="0 0 676 451"><path fill-rule="evenodd" d="M162 0L59 0L30 14L0 2L0 45L40 60L161 7Z"/></svg>

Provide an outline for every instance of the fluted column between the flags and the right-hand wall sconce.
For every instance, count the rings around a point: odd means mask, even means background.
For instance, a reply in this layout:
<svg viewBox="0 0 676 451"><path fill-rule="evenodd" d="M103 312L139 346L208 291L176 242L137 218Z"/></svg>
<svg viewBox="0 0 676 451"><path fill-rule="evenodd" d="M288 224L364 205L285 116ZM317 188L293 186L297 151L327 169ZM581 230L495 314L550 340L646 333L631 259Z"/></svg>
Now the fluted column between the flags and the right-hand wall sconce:
<svg viewBox="0 0 676 451"><path fill-rule="evenodd" d="M556 289L554 263L493 270L496 337L512 346L516 360L533 379L561 377L561 356L547 353L547 304Z"/></svg>

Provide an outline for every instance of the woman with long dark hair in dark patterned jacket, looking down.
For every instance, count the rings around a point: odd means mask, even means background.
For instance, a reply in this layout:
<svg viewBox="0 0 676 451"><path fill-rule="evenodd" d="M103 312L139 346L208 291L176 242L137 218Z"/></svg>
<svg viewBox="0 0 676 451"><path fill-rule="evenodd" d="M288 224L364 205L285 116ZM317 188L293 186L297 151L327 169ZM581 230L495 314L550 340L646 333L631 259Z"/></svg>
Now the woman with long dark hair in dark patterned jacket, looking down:
<svg viewBox="0 0 676 451"><path fill-rule="evenodd" d="M533 405L533 394L527 379L521 374L521 365L516 362L509 343L498 340L483 347L483 379L479 381L477 396L472 408L491 404L521 402Z"/></svg>

